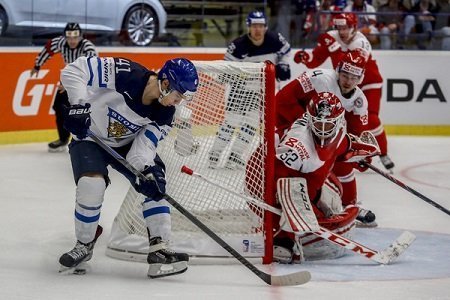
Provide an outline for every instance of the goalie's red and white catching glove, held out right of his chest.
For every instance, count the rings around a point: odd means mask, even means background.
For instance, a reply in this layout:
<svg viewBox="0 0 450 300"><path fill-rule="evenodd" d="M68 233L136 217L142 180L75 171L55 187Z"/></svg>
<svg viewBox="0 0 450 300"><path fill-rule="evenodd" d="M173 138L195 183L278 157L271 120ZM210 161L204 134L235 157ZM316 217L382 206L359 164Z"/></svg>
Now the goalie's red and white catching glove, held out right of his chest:
<svg viewBox="0 0 450 300"><path fill-rule="evenodd" d="M364 132L361 134L365 134ZM343 161L353 164L355 169L361 172L367 170L367 164L372 162L372 157L380 155L380 149L378 145L370 144L362 141L358 136L348 134L349 138L349 150L343 156Z"/></svg>

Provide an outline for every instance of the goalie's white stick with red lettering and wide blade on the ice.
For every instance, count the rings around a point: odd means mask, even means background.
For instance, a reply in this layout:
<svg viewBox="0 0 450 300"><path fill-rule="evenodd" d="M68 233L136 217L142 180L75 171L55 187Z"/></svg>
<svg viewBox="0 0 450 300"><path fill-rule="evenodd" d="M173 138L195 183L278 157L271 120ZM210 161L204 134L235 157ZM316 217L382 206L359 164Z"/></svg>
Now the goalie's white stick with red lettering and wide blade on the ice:
<svg viewBox="0 0 450 300"><path fill-rule="evenodd" d="M262 201L258 201L250 196L238 193L233 191L230 188L227 188L225 186L219 185L218 183L206 178L205 176L194 172L192 169L188 168L187 166L183 166L181 168L182 173L186 173L188 175L200 178L206 182L208 182L211 185L214 185L216 187L219 187L227 192L229 192L232 195L235 195L239 198L243 198L249 203L250 205L257 206L259 208L263 208L267 211L270 211L274 214L281 215L281 209L273 207L267 203L264 203ZM409 231L403 232L392 244L382 250L382 251L376 251L372 250L369 247L366 247L360 243L357 243L351 239L348 239L340 234L334 233L326 228L320 227L318 231L312 232L312 234L319 236L323 239L329 240L335 245L338 245L339 247L346 248L348 250L351 250L359 255L362 255L366 258L369 258L379 264L390 264L393 262L397 257L399 257L415 240L415 235L412 234Z"/></svg>

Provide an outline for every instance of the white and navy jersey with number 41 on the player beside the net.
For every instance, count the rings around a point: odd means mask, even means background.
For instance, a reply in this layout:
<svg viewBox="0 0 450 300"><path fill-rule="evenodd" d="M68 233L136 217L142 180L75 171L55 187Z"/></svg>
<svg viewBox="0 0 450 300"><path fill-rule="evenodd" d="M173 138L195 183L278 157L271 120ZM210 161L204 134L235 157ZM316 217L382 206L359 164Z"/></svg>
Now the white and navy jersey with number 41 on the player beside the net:
<svg viewBox="0 0 450 300"><path fill-rule="evenodd" d="M69 102L91 104L92 132L111 147L133 143L126 159L138 170L154 165L158 142L170 131L175 113L175 107L156 100L142 104L151 75L156 73L113 57L80 57L61 72Z"/></svg>

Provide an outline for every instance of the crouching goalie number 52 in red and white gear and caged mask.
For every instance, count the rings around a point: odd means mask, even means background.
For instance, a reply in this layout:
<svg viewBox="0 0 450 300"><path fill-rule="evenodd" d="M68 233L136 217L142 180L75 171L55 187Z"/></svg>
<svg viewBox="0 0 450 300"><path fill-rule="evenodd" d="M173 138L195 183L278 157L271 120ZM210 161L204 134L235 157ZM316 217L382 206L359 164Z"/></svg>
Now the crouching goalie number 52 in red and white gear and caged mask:
<svg viewBox="0 0 450 300"><path fill-rule="evenodd" d="M339 98L332 93L315 94L306 113L290 127L277 131L275 184L277 201L283 214L274 222L274 259L291 263L306 259L338 257L341 249L331 246L308 232L314 230L314 222L336 231L347 233L358 215L355 205L343 206L342 188L332 173L335 162L358 166L361 160L370 161L378 155L378 147L361 142L347 134L345 109ZM255 151L247 165L248 192L254 178L250 170L260 160L261 151ZM306 205L305 205L306 203ZM309 213L305 214L306 207ZM316 219L317 218L317 219ZM302 219L302 221L298 221ZM316 220L314 220L316 219ZM298 222L297 222L298 221ZM297 226L298 225L298 226ZM303 246L302 246L303 245Z"/></svg>

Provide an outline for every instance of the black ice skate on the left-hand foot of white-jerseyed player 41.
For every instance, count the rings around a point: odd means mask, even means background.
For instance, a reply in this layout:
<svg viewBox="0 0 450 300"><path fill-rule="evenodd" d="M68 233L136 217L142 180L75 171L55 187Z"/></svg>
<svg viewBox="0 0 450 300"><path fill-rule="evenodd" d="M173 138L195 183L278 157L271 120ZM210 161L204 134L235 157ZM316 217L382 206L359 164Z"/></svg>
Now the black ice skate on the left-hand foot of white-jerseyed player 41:
<svg viewBox="0 0 450 300"><path fill-rule="evenodd" d="M83 263L92 258L95 242L102 232L103 228L98 226L95 238L92 242L85 244L77 241L72 250L61 255L59 258L59 263L61 264L59 273L85 274L86 267L83 266Z"/></svg>

